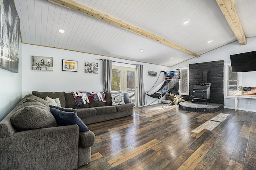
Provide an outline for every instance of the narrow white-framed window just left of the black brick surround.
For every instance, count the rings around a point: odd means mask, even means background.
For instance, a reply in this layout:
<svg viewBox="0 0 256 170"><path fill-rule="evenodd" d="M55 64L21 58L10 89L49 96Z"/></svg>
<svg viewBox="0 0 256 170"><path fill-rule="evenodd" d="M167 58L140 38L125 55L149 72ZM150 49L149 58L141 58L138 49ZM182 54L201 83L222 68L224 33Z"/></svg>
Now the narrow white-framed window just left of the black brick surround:
<svg viewBox="0 0 256 170"><path fill-rule="evenodd" d="M181 84L180 84L180 91L182 95L189 95L189 91L188 91L188 67L183 67L180 68L180 80L181 80Z"/></svg>

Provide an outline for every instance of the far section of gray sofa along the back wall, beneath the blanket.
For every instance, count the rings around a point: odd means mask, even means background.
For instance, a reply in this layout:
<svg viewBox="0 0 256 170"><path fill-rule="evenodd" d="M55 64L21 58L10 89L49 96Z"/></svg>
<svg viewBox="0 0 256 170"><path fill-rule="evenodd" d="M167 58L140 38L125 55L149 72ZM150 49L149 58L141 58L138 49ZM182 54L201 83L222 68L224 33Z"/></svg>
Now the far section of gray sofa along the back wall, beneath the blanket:
<svg viewBox="0 0 256 170"><path fill-rule="evenodd" d="M76 102L71 92L32 92L33 95L38 96L42 99L45 99L46 96L49 96L52 99L59 98L61 107L77 109L78 117L86 125L133 115L133 103L112 106L111 94L117 94L117 92L104 93L106 102L95 101L88 104L76 106Z"/></svg>

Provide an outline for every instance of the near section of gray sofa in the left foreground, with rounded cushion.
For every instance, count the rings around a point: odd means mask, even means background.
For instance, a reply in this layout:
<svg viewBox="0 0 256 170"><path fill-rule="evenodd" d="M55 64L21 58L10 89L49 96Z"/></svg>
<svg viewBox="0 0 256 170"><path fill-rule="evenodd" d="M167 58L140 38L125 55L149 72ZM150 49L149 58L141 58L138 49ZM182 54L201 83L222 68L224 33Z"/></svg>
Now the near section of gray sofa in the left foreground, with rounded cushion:
<svg viewBox="0 0 256 170"><path fill-rule="evenodd" d="M58 126L48 103L25 96L0 122L0 169L72 170L91 159L95 135Z"/></svg>

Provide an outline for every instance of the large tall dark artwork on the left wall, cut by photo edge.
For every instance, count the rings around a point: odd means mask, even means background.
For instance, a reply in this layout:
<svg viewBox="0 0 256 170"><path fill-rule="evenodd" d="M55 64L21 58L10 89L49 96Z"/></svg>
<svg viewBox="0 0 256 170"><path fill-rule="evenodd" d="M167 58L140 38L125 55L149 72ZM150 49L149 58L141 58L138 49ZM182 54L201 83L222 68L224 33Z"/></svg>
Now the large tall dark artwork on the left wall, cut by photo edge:
<svg viewBox="0 0 256 170"><path fill-rule="evenodd" d="M20 18L12 0L1 0L0 68L19 71Z"/></svg>

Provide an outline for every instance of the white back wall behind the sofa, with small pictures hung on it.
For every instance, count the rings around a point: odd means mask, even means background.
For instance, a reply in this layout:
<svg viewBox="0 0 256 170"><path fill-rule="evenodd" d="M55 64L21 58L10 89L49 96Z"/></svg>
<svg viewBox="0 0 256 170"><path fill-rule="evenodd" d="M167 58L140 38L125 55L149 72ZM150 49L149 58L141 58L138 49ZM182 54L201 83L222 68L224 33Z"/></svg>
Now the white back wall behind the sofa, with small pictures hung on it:
<svg viewBox="0 0 256 170"><path fill-rule="evenodd" d="M32 70L33 55L53 57L53 71ZM62 59L78 61L78 71L62 71ZM100 59L111 59L112 61L130 63L121 64L113 62L112 65L133 68L136 66L131 64L143 64L145 91L149 90L157 79L157 77L148 76L148 70L156 71L157 76L159 75L160 70L170 70L170 67L155 64L139 63L100 55L22 44L22 97L31 93L33 90L41 92L102 91L104 88L102 74L103 63ZM85 73L85 61L98 63L99 73ZM152 98L147 99L148 103L153 101Z"/></svg>

